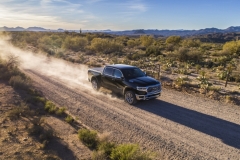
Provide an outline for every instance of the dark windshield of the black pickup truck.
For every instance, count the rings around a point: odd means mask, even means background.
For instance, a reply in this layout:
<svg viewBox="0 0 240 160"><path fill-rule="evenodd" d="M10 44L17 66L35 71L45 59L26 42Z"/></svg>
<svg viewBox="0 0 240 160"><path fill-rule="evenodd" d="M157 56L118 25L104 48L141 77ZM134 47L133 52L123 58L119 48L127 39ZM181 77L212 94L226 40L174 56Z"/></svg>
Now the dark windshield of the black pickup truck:
<svg viewBox="0 0 240 160"><path fill-rule="evenodd" d="M139 68L123 69L122 73L123 73L124 77L127 78L127 79L146 76L145 73L143 71L141 71Z"/></svg>

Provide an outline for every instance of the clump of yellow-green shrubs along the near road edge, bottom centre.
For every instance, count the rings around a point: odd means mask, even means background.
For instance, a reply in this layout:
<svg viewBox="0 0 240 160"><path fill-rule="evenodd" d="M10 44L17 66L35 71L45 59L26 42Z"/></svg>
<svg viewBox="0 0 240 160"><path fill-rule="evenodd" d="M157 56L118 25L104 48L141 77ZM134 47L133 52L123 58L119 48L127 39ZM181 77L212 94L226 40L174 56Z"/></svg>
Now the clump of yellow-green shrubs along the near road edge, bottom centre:
<svg viewBox="0 0 240 160"><path fill-rule="evenodd" d="M90 149L94 150L93 160L152 160L155 153L143 151L137 144L120 144L110 142L108 135L98 136L94 130L80 129L79 139Z"/></svg>

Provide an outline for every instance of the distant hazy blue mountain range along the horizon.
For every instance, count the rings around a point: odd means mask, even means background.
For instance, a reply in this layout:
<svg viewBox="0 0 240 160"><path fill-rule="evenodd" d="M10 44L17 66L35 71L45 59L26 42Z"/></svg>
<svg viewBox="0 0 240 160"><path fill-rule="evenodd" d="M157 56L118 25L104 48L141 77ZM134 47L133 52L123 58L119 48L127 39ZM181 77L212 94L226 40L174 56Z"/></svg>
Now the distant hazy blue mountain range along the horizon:
<svg viewBox="0 0 240 160"><path fill-rule="evenodd" d="M64 30L64 29L45 29L42 27L0 27L0 31L36 31L36 32L79 32L80 30ZM155 35L155 36L193 36L193 35L203 35L203 34L212 34L212 33L236 33L240 32L240 26L231 26L226 29L218 29L218 28L205 28L199 30L158 30L158 29L136 29L136 30L125 30L125 31L112 31L112 30L82 30L82 32L98 32L98 33L110 33L116 35Z"/></svg>

